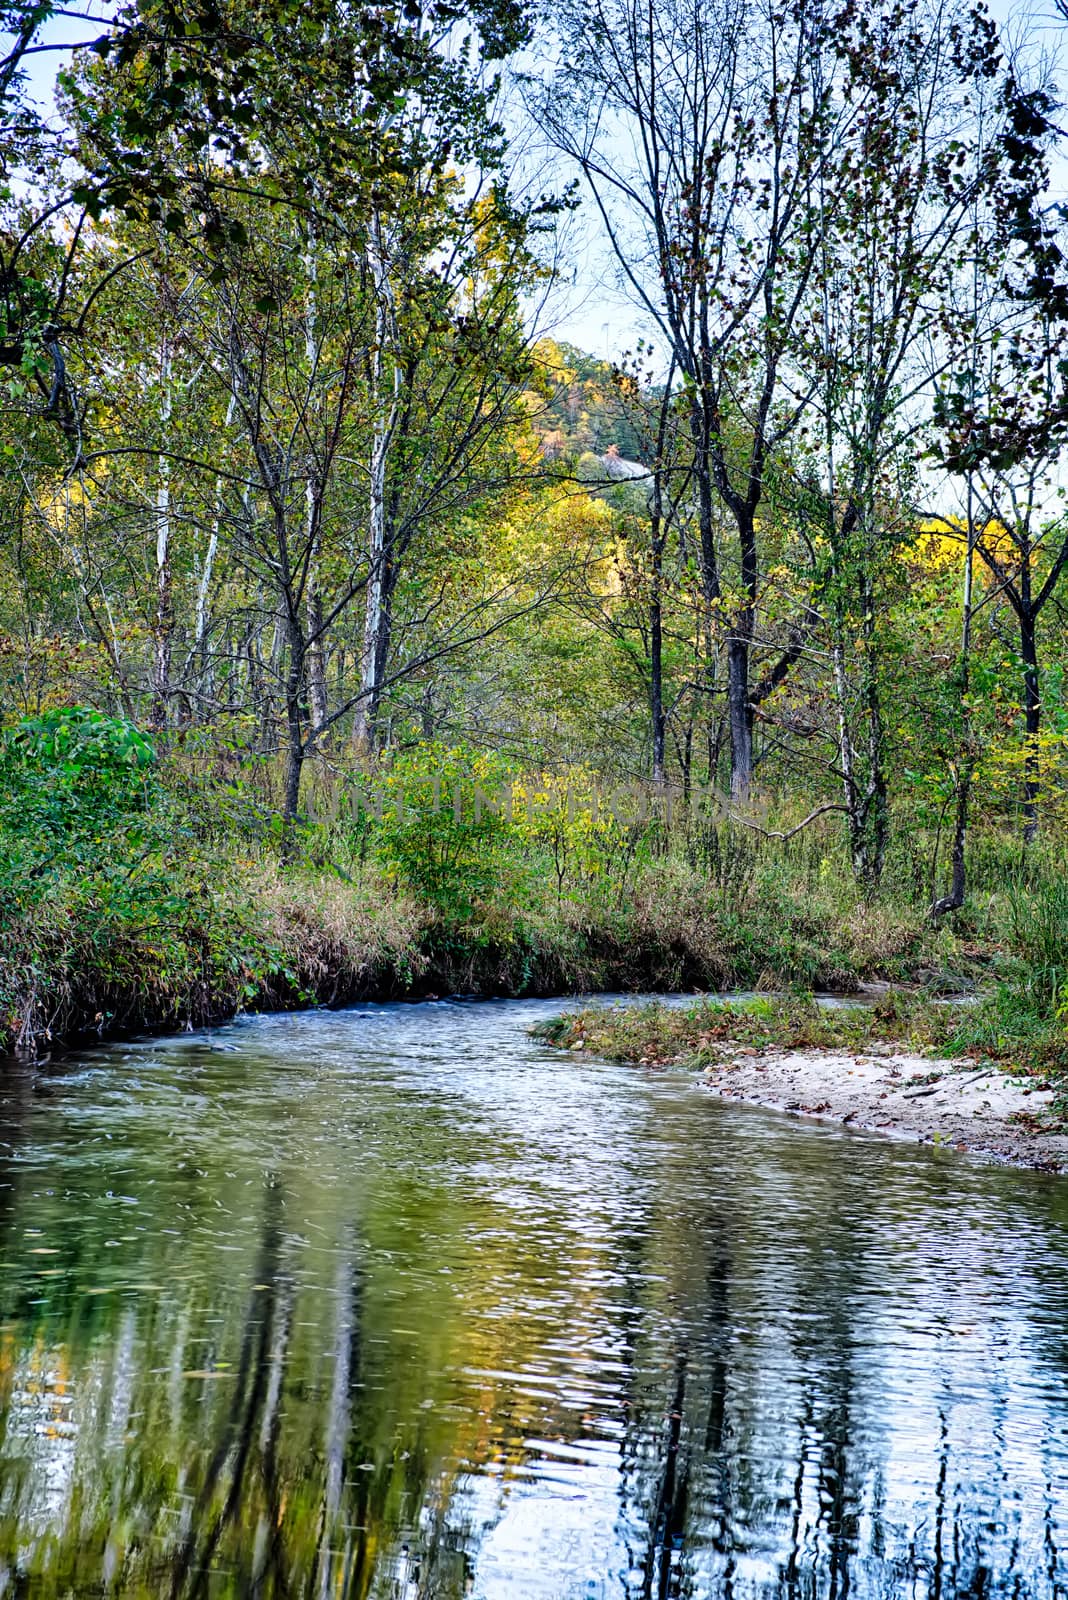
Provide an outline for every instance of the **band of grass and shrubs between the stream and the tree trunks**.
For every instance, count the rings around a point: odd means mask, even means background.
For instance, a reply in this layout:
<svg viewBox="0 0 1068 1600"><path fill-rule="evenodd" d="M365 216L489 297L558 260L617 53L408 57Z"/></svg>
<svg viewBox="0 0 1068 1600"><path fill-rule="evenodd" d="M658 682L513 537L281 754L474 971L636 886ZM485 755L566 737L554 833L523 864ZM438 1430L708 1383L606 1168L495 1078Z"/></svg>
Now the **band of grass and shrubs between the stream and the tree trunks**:
<svg viewBox="0 0 1068 1600"><path fill-rule="evenodd" d="M887 979L990 992L954 1024L972 1030L969 1048L1007 1059L1026 1045L1028 1059L1062 1070L1068 891L1054 851L1022 861L1014 840L985 837L974 898L932 925L916 830L899 837L873 896L854 883L833 822L775 840L697 814L668 832L574 794L564 803L555 779L528 784L515 814L480 806L478 786L502 776L486 757L422 747L376 779L368 813L323 763L309 781L315 805L283 834L270 768L160 758L130 725L78 709L21 725L0 746L0 1046L456 990ZM440 805L443 784L460 798ZM772 1016L795 1042L868 1026L796 1002L713 1026L769 1029ZM612 1026L609 1053L689 1048L668 1037L678 1013L633 1024L662 1027L662 1040ZM937 1032L937 1008L907 1008L895 1026L926 1029L924 1048L961 1045Z"/></svg>

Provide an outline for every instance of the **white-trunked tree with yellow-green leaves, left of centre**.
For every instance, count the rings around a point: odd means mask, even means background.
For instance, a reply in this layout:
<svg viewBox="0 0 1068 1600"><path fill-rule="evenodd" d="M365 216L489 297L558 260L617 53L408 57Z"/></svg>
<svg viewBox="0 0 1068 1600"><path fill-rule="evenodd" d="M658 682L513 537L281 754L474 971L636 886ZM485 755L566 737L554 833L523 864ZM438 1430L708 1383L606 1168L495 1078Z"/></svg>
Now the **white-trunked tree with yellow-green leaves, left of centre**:
<svg viewBox="0 0 1068 1600"><path fill-rule="evenodd" d="M539 208L540 219L552 203ZM368 600L353 741L369 752L397 651L398 589L420 544L448 549L478 504L523 470L510 435L526 422L532 371L520 302L540 275L539 216L488 184L416 176L368 232L374 339L366 360ZM425 592L419 610L433 605Z"/></svg>

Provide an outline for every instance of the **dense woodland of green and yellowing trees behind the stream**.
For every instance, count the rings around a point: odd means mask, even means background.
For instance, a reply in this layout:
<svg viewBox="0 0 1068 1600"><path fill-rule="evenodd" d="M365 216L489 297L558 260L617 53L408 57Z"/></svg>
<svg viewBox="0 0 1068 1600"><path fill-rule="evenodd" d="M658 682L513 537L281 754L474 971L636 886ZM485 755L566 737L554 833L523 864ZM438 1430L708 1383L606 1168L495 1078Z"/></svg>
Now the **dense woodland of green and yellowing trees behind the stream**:
<svg viewBox="0 0 1068 1600"><path fill-rule="evenodd" d="M889 976L1060 1059L1049 26L2 13L11 1040Z"/></svg>

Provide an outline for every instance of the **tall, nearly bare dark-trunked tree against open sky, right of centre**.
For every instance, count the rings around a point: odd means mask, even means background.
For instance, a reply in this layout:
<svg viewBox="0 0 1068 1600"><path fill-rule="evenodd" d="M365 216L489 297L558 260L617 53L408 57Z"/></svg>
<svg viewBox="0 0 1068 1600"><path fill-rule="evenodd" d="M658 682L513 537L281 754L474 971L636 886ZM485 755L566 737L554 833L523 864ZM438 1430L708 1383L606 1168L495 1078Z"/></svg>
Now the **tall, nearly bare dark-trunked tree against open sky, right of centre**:
<svg viewBox="0 0 1068 1600"><path fill-rule="evenodd" d="M827 98L839 18L758 0L595 0L556 13L561 64L542 125L588 182L622 277L678 365L689 406L707 630L726 642L731 790L748 795L758 707L801 653L809 619L753 678L761 648L761 515L798 424L790 352L835 168ZM632 154L633 152L633 154ZM716 504L734 528L726 546ZM774 648L774 646L772 646ZM719 691L707 662L705 694Z"/></svg>

